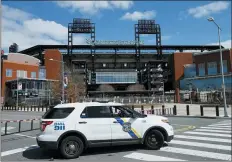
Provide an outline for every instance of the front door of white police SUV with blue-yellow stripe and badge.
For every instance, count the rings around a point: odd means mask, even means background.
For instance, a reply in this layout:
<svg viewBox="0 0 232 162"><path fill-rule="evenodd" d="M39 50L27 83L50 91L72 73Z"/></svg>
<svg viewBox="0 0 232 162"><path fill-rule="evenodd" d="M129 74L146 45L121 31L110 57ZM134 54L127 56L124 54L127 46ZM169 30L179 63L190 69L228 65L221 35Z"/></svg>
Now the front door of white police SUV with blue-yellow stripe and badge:
<svg viewBox="0 0 232 162"><path fill-rule="evenodd" d="M133 118L122 106L111 106L111 113L112 141L141 138L143 118Z"/></svg>

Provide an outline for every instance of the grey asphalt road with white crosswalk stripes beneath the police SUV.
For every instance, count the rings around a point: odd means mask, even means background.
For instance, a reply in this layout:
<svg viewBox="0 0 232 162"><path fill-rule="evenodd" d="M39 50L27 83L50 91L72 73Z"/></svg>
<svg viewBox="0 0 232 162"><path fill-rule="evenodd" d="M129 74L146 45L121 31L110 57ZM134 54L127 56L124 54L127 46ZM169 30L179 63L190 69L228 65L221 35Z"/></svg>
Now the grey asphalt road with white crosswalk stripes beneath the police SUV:
<svg viewBox="0 0 232 162"><path fill-rule="evenodd" d="M175 129L175 139L161 150L146 150L141 145L101 147L88 149L78 161L231 160L230 120L177 117L169 119ZM2 136L2 161L48 161L51 158L54 158L54 161L63 160L57 152L43 152L38 148L35 141L38 132L36 130Z"/></svg>

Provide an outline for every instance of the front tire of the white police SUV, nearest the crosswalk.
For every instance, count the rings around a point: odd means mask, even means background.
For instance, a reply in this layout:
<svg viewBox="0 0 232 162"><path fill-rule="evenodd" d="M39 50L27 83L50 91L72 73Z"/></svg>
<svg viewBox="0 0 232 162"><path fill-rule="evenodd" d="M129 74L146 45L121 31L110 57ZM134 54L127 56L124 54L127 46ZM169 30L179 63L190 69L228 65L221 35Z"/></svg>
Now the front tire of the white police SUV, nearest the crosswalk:
<svg viewBox="0 0 232 162"><path fill-rule="evenodd" d="M150 130L144 139L144 144L150 150L159 150L164 144L164 136L158 130Z"/></svg>

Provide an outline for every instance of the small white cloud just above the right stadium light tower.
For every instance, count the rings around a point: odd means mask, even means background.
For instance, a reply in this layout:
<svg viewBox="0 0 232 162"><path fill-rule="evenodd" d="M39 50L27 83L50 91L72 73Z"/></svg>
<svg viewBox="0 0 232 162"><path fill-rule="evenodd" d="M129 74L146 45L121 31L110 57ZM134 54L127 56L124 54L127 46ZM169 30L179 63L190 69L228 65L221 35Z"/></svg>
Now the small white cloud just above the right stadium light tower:
<svg viewBox="0 0 232 162"><path fill-rule="evenodd" d="M133 13L127 12L121 17L121 20L137 21L139 19L153 19L155 16L156 11L154 10L145 12L134 11Z"/></svg>

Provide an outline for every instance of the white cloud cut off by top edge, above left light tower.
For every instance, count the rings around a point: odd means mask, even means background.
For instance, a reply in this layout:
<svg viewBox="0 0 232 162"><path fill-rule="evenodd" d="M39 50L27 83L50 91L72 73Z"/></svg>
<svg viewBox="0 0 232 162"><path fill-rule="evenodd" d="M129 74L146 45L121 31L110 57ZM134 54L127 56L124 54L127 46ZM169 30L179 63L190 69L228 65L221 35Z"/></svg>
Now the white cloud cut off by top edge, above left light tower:
<svg viewBox="0 0 232 162"><path fill-rule="evenodd" d="M59 7L71 9L73 12L78 10L88 15L94 15L106 9L129 9L133 5L132 1L58 1L55 3Z"/></svg>

